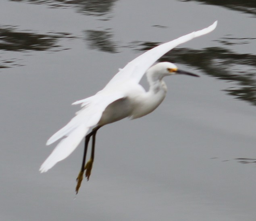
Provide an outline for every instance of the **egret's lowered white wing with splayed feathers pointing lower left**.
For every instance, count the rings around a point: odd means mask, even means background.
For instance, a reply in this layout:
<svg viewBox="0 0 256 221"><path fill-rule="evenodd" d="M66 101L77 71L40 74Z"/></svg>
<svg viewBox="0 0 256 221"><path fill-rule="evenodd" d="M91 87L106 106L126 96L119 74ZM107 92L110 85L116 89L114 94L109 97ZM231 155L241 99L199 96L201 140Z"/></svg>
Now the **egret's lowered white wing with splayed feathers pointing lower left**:
<svg viewBox="0 0 256 221"><path fill-rule="evenodd" d="M120 98L123 98L121 93L96 94L89 97L86 101L84 99L75 102L75 104L82 103L82 106L85 106L77 112L77 115L66 126L58 130L47 141L46 145L50 145L65 136L41 165L39 169L41 173L48 171L58 161L68 157L87 134L89 128L98 124L106 107Z"/></svg>

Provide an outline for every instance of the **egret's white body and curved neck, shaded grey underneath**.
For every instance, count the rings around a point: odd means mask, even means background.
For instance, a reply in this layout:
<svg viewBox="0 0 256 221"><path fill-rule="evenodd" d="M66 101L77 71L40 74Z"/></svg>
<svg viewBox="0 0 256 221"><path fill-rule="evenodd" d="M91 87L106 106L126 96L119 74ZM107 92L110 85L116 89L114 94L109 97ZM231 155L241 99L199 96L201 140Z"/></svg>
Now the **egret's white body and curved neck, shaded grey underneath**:
<svg viewBox="0 0 256 221"><path fill-rule="evenodd" d="M169 62L165 62L169 65ZM160 64L160 63L159 63ZM161 63L163 64L163 63ZM155 66L148 70L148 82L150 84L149 91L133 81L119 85L117 91L122 89L124 97L110 103L98 123L99 126L130 117L131 119L143 117L158 107L163 101L166 93L167 86L158 76L153 79L152 72ZM122 110L122 111L120 111Z"/></svg>

